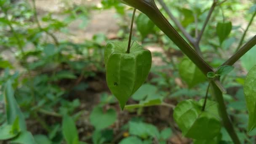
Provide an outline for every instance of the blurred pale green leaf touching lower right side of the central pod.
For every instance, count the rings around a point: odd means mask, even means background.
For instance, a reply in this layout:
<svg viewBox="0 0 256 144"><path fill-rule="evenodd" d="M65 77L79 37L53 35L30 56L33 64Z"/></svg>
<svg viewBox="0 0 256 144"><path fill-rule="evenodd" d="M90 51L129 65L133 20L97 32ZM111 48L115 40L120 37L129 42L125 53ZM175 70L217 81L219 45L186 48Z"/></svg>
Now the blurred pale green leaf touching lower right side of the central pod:
<svg viewBox="0 0 256 144"><path fill-rule="evenodd" d="M132 95L132 99L136 101L141 101L146 98L146 96L155 94L157 92L157 87L155 85L143 84L141 87Z"/></svg>

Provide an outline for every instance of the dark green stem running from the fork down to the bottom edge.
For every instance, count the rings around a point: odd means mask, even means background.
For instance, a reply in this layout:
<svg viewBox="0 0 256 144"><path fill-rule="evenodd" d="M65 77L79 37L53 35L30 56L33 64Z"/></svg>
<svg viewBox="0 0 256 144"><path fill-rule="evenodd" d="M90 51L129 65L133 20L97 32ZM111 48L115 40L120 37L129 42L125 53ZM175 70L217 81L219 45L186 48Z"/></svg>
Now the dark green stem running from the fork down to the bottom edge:
<svg viewBox="0 0 256 144"><path fill-rule="evenodd" d="M218 102L219 115L222 119L224 127L226 128L227 132L229 133L229 136L231 137L233 143L240 144L240 141L237 137L235 129L232 125L232 122L228 117L226 105L224 103L224 99L223 99L221 91L213 82L211 82L211 87L213 89L213 96L215 97L216 101Z"/></svg>

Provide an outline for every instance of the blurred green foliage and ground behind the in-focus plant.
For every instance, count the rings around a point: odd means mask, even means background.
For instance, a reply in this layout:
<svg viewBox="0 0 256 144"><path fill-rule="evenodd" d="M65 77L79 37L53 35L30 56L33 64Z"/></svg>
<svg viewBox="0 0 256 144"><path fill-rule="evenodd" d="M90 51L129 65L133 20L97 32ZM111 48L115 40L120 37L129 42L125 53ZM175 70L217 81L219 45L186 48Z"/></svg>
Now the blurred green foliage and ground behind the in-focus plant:
<svg viewBox="0 0 256 144"><path fill-rule="evenodd" d="M146 15L137 11L132 39L152 52L152 68L146 83L121 111L107 88L104 48L109 41L128 40L132 9L118 0L82 4L61 0L64 6L58 12L40 12L38 1L0 0L0 144L208 143L184 138L173 118L173 108L180 101L203 99L207 78ZM212 1L165 3L195 37ZM96 13L115 13L114 35L94 29L90 38L86 36L88 27L104 23L104 19L92 21ZM244 0L243 4L227 0L216 7L200 43L203 57L212 67L217 68L236 51L255 13L253 0ZM108 21L104 26L113 23ZM255 25L254 19L243 44L255 35ZM74 34L71 27L85 35L82 40L73 38L79 34ZM250 120L255 122L255 117L248 116L246 103L250 100L244 96L243 84L256 65L255 53L256 47L221 77L235 131L243 143L250 144L255 142L256 131L247 133L248 120L252 117ZM214 101L211 91L209 100ZM255 127L252 123L250 128ZM211 142L231 141L221 125L220 134Z"/></svg>

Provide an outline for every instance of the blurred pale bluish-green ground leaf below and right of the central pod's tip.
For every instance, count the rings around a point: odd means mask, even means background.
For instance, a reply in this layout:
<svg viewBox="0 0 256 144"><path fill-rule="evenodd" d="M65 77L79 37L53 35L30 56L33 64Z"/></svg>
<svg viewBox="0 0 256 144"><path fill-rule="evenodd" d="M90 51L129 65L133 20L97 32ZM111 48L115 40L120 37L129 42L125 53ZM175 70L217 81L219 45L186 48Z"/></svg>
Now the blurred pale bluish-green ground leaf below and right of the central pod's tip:
<svg viewBox="0 0 256 144"><path fill-rule="evenodd" d="M160 138L160 133L155 125L143 123L143 122L129 122L129 133L131 135L139 136L146 139L148 136Z"/></svg>

